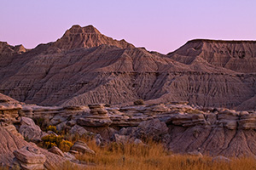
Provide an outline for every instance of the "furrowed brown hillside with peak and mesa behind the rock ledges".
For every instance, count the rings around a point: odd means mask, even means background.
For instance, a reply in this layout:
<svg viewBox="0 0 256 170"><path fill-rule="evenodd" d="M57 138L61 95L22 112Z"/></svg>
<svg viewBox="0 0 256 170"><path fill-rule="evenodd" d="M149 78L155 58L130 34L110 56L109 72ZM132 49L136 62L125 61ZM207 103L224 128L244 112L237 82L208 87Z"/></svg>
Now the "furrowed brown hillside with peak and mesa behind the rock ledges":
<svg viewBox="0 0 256 170"><path fill-rule="evenodd" d="M93 26L72 26L56 42L26 53L1 52L0 92L38 105L144 99L255 110L255 44L194 40L164 55L113 40Z"/></svg>

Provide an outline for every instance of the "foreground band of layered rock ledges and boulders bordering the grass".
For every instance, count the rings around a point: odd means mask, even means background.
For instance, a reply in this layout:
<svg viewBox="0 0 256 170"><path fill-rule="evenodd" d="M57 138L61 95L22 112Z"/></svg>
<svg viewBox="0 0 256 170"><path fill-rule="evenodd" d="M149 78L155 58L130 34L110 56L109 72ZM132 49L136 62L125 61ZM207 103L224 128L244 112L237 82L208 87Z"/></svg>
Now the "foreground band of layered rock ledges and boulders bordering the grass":
<svg viewBox="0 0 256 170"><path fill-rule="evenodd" d="M38 106L19 103L3 94L0 106L0 161L9 167L53 169L67 161L83 167L73 155L96 154L82 141L68 152L38 147L33 142L52 133L43 132L33 122L38 118L48 120L58 131L90 135L98 145L111 141L143 144L150 138L165 144L174 154L256 156L256 111L203 108L187 102L122 107Z"/></svg>

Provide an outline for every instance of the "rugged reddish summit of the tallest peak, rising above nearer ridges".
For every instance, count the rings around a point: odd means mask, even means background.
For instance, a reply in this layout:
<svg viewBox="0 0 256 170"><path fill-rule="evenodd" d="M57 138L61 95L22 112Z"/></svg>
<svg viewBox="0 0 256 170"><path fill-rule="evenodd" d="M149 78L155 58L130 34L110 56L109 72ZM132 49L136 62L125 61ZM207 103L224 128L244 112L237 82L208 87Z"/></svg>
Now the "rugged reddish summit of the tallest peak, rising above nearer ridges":
<svg viewBox="0 0 256 170"><path fill-rule="evenodd" d="M93 48L102 44L115 46L117 48L133 48L131 43L125 40L113 40L111 37L106 37L101 34L94 26L72 26L65 32L61 39L55 42L57 48L69 50L74 48Z"/></svg>

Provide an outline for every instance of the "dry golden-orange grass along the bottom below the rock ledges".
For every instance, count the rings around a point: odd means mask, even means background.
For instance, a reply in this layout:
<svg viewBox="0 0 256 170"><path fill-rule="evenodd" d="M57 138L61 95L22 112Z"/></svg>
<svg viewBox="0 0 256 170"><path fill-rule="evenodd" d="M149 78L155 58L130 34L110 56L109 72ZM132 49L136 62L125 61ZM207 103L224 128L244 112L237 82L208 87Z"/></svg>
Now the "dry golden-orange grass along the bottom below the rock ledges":
<svg viewBox="0 0 256 170"><path fill-rule="evenodd" d="M256 160L253 158L233 158L230 162L212 161L210 156L182 156L172 155L161 144L109 144L104 148L96 146L93 141L87 142L96 156L77 156L85 161L89 167L86 169L98 170L221 170L221 169L256 169Z"/></svg>

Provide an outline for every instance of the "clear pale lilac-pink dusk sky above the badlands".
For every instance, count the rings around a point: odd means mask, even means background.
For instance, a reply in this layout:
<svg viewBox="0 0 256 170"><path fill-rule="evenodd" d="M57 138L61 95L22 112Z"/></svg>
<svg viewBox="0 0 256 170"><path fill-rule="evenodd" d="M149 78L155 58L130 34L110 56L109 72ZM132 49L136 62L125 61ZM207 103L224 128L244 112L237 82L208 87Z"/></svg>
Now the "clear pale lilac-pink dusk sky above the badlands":
<svg viewBox="0 0 256 170"><path fill-rule="evenodd" d="M167 54L195 38L256 40L255 0L1 0L0 41L35 48L73 25Z"/></svg>

